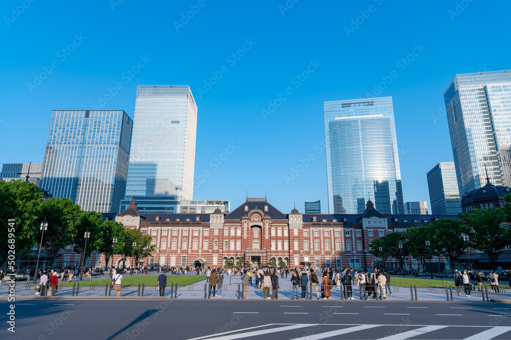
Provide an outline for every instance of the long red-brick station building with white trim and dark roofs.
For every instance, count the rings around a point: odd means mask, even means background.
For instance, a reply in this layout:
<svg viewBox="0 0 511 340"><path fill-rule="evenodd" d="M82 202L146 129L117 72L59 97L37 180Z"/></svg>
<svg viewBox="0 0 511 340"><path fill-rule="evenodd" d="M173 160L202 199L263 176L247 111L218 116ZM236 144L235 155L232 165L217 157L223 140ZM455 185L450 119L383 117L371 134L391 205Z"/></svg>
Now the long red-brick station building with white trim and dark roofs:
<svg viewBox="0 0 511 340"><path fill-rule="evenodd" d="M283 213L266 198L247 197L241 206L227 214L220 209L212 214L141 214L133 199L124 212L105 214L105 218L153 238L151 244L155 251L149 260L141 260L139 267L147 262L161 266L220 267L228 259L236 263L243 257L255 265L271 260L278 264L282 260L291 267L340 269L375 267L377 259L368 253L369 242L375 238L428 225L436 219L459 216L383 216L371 201L362 215L300 214L296 209ZM105 265L100 254L91 257L91 263ZM131 266L130 260L126 266ZM408 269L422 267L410 257L406 262ZM437 267L444 270L441 262L433 258L431 270ZM120 256L115 255L114 264L119 263ZM397 267L397 264L389 259L387 266Z"/></svg>

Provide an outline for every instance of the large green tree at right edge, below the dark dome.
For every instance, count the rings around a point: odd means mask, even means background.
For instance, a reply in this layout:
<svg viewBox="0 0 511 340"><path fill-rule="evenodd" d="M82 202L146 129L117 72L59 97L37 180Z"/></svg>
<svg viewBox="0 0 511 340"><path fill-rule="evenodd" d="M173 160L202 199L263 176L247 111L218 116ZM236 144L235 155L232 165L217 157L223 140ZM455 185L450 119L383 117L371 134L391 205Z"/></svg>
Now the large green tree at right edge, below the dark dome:
<svg viewBox="0 0 511 340"><path fill-rule="evenodd" d="M497 269L497 260L505 251L505 246L511 244L511 230L500 225L507 220L506 213L500 208L474 209L460 215L472 232L469 234L470 243L480 250L490 262L491 269Z"/></svg>

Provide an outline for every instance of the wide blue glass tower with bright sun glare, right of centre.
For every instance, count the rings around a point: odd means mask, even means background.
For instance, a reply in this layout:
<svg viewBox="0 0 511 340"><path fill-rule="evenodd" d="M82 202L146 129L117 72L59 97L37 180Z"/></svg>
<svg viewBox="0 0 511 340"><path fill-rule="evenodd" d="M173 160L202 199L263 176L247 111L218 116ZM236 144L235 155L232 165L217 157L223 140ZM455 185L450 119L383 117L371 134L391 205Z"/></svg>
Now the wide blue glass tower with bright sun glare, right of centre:
<svg viewBox="0 0 511 340"><path fill-rule="evenodd" d="M382 214L403 214L392 97L323 106L329 212L362 214L370 199Z"/></svg>

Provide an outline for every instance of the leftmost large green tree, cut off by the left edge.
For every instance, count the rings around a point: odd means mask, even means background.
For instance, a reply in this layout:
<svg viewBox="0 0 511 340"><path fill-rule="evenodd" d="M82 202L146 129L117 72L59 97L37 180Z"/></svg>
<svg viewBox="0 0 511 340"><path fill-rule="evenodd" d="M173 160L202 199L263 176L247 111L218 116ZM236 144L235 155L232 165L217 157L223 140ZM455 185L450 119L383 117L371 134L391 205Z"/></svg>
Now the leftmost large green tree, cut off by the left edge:
<svg viewBox="0 0 511 340"><path fill-rule="evenodd" d="M25 180L0 181L0 256L7 264L9 239L14 235L14 255L25 254L36 244L35 234L39 230L39 213L43 193L33 183ZM14 233L9 223L14 223ZM12 241L11 241L12 242ZM12 251L12 250L11 250Z"/></svg>

